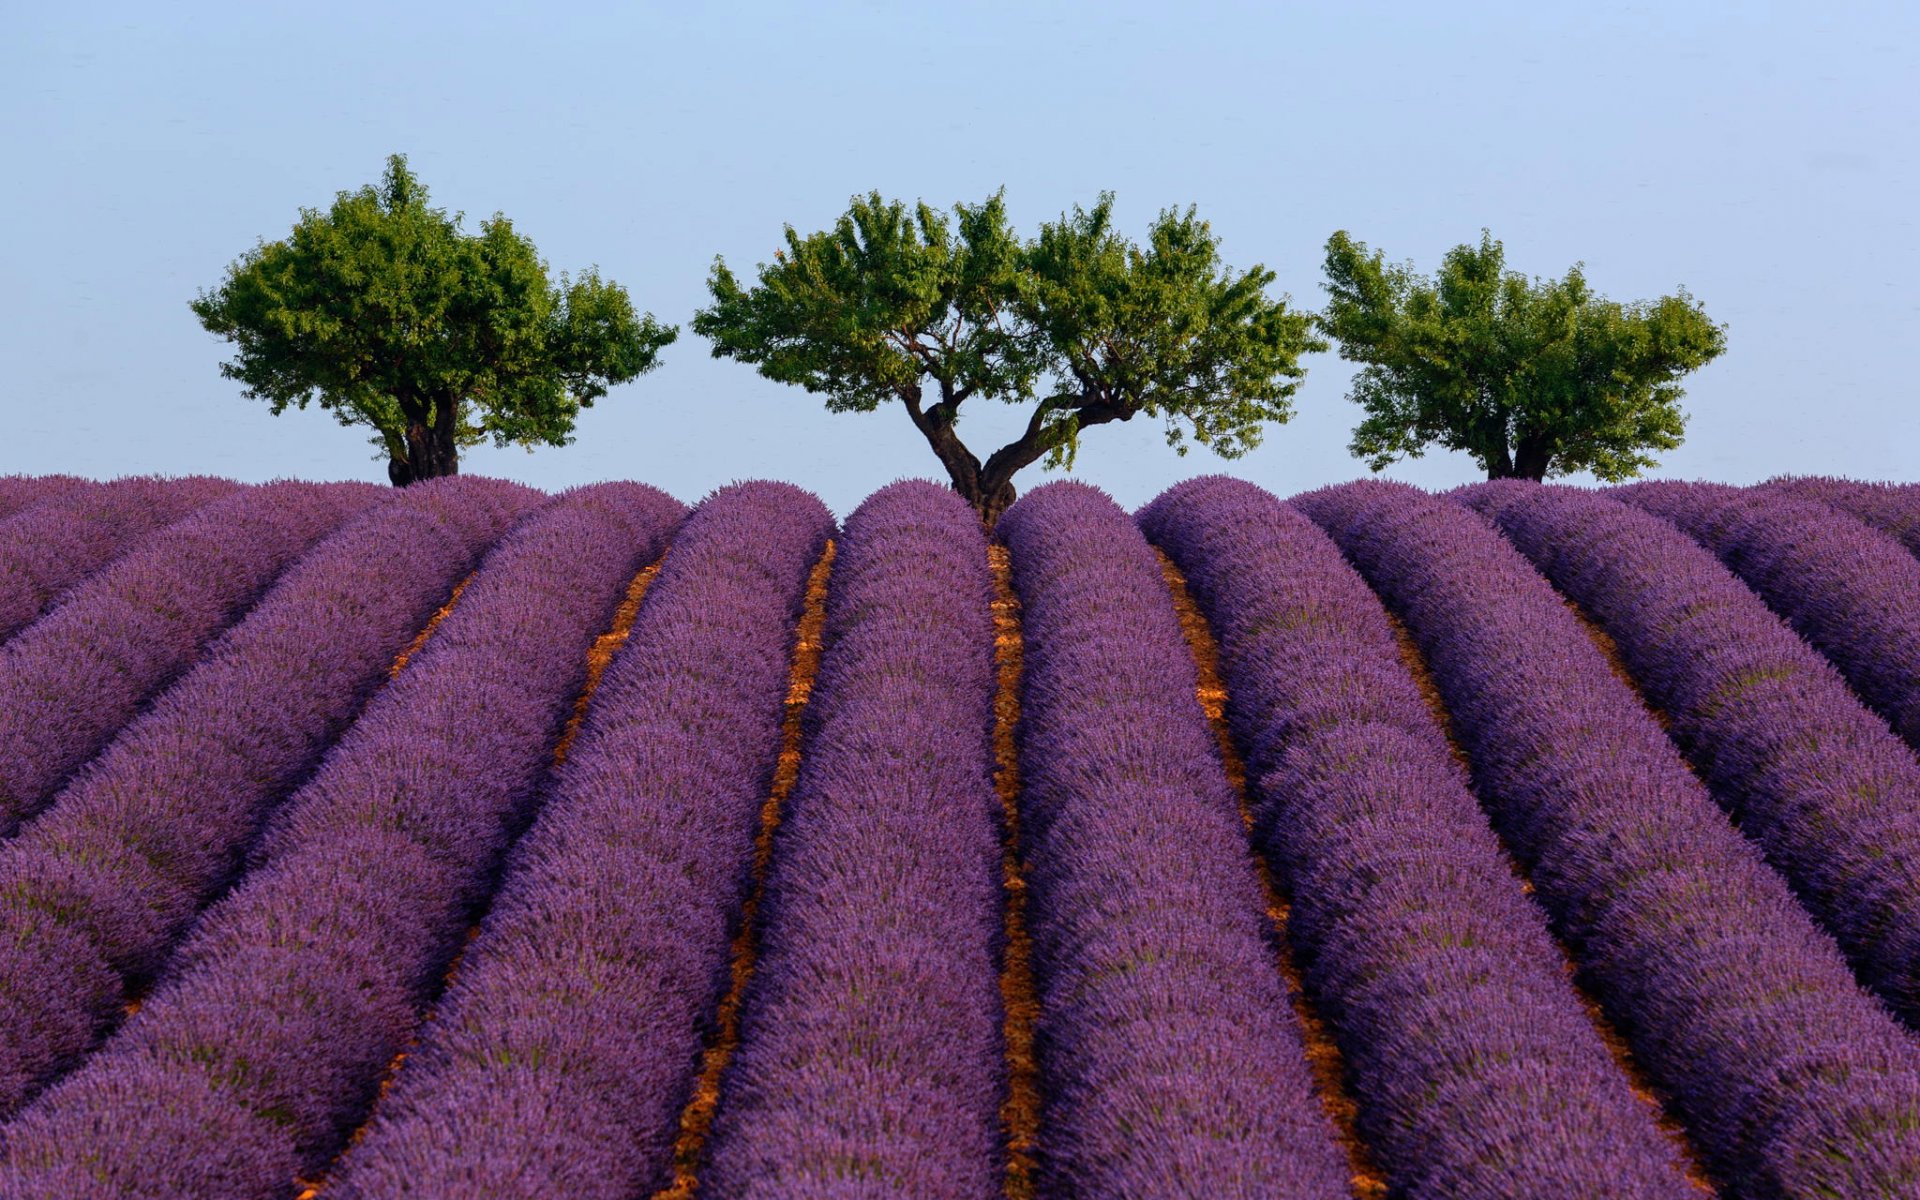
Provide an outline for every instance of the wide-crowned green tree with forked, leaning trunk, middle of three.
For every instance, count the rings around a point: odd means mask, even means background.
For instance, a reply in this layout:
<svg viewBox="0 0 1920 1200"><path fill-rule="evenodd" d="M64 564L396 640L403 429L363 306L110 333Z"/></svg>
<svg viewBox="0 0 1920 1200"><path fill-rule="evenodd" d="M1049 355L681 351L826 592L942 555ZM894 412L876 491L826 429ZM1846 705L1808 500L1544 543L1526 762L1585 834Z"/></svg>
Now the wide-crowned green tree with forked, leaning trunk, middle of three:
<svg viewBox="0 0 1920 1200"><path fill-rule="evenodd" d="M712 305L693 330L714 357L826 396L833 413L900 401L954 490L993 522L1014 474L1071 467L1089 426L1144 413L1223 457L1286 420L1304 371L1325 349L1311 317L1265 296L1273 273L1221 267L1204 221L1164 211L1146 246L1112 228L1112 194L1020 240L1002 194L952 219L877 192L824 232L787 246L743 288L714 259ZM985 459L960 442L960 409L981 397L1031 403L1025 430Z"/></svg>

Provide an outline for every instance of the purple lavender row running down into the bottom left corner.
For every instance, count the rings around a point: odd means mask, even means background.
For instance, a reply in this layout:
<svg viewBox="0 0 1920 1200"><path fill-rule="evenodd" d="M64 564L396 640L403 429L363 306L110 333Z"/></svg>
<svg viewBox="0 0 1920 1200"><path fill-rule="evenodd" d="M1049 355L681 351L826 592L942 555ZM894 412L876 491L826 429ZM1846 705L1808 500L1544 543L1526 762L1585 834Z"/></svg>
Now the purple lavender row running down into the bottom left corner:
<svg viewBox="0 0 1920 1200"><path fill-rule="evenodd" d="M515 526L276 812L154 996L13 1121L8 1183L96 1164L94 1188L267 1200L324 1167L528 814L593 637L682 513L601 484Z"/></svg>

